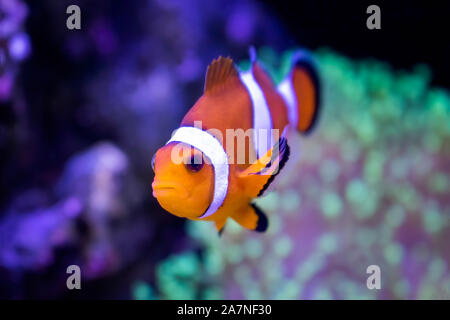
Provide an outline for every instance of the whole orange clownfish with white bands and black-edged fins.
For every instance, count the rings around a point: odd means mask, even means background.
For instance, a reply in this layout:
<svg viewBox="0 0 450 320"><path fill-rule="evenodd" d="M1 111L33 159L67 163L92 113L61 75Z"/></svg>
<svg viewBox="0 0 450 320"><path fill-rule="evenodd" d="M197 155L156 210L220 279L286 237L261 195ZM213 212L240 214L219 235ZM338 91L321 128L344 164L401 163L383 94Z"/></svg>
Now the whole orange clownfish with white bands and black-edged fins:
<svg viewBox="0 0 450 320"><path fill-rule="evenodd" d="M159 204L178 217L214 221L219 234L228 218L250 230L267 229L267 216L252 200L289 158L287 128L309 133L319 113L319 78L307 52L294 52L290 72L277 86L254 49L250 56L248 71L229 57L212 61L203 95L152 159ZM243 157L229 130L250 132ZM258 132L264 130L269 133L261 138Z"/></svg>

